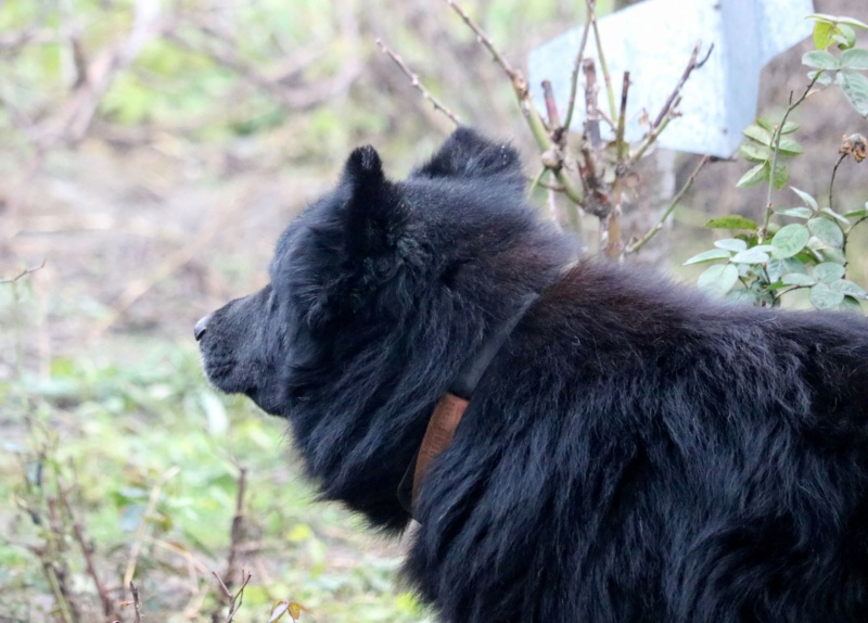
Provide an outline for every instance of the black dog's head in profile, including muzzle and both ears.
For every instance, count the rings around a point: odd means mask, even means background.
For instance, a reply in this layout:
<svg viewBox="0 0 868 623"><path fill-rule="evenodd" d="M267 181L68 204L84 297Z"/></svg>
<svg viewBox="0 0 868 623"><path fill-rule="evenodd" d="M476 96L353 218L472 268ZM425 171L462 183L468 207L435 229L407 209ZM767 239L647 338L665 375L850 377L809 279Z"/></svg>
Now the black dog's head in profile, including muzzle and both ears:
<svg viewBox="0 0 868 623"><path fill-rule="evenodd" d="M280 237L270 284L196 325L208 379L286 415L294 398L326 389L444 302L490 315L505 288L533 278L513 275L516 265L551 264L524 240L539 226L523 193L516 152L470 129L398 182L373 148L355 150L336 189Z"/></svg>

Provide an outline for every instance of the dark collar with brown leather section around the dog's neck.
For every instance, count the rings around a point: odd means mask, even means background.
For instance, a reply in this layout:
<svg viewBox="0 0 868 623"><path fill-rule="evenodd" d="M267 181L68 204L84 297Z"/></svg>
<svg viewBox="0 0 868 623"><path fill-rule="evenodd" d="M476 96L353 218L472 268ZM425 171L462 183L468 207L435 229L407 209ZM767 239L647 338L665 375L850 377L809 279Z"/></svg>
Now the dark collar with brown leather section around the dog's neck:
<svg viewBox="0 0 868 623"><path fill-rule="evenodd" d="M474 355L469 357L461 366L449 386L449 391L434 406L419 453L416 455L413 462L407 468L404 479L398 485L398 500L413 517L416 517L416 503L419 498L419 491L422 488L422 481L427 473L429 467L452 443L455 431L470 404L480 379L485 373L485 370L488 369L492 359L500 351L500 346L512 333L515 325L519 323L527 308L538 297L537 293L532 293L523 298L513 315L492 329L492 332ZM410 480L411 478L412 480Z"/></svg>

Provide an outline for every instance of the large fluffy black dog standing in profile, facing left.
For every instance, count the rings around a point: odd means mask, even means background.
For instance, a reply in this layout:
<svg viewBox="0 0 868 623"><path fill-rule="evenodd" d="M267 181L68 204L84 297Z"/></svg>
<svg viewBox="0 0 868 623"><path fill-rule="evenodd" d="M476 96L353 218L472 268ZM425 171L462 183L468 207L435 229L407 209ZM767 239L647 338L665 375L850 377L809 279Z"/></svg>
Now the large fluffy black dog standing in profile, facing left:
<svg viewBox="0 0 868 623"><path fill-rule="evenodd" d="M208 378L400 531L434 405L520 317L414 507L405 572L443 621L868 621L868 323L567 268L523 193L468 129L400 182L356 150L271 284L196 326Z"/></svg>

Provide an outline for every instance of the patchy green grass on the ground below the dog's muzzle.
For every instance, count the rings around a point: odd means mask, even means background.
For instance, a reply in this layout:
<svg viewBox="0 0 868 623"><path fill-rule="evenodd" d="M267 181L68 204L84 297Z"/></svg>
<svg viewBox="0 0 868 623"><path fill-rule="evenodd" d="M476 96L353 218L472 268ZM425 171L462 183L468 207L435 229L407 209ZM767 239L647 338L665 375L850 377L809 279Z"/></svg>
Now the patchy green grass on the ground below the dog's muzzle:
<svg viewBox="0 0 868 623"><path fill-rule="evenodd" d="M268 621L276 600L302 621L425 620L395 584L398 547L314 500L284 422L215 394L192 345L126 346L125 364L92 348L0 380L0 621L111 620L94 575L133 621L130 572L145 621L229 621L212 572L232 556L235 589L252 574L237 622Z"/></svg>

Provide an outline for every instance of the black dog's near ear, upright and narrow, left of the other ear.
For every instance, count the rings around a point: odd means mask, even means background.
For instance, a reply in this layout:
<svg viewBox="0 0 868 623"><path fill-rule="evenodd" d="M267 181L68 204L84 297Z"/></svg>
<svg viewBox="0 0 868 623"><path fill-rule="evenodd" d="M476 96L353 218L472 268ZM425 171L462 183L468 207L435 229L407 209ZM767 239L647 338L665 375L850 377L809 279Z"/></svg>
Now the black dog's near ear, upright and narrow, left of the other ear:
<svg viewBox="0 0 868 623"><path fill-rule="evenodd" d="M394 249L407 220L396 186L383 174L376 151L366 145L349 154L341 178L347 196L344 239L353 255L381 255Z"/></svg>

